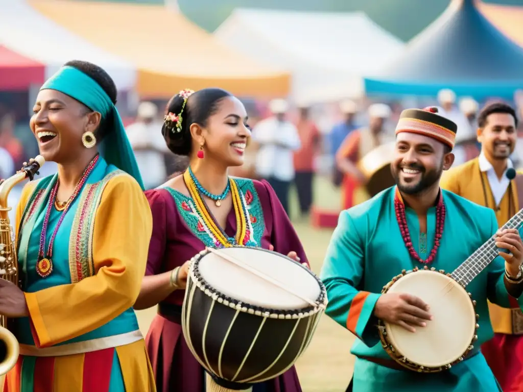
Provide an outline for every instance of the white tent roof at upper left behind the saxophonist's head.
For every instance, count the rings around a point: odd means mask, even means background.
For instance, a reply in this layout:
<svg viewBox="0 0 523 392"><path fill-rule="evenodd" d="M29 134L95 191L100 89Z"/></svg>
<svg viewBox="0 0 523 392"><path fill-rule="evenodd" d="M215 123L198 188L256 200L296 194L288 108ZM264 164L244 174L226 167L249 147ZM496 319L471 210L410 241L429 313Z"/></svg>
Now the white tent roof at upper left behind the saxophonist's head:
<svg viewBox="0 0 523 392"><path fill-rule="evenodd" d="M136 82L131 63L56 25L25 0L0 0L0 44L46 65L46 77L67 61L84 60L103 67L119 90L130 90Z"/></svg>

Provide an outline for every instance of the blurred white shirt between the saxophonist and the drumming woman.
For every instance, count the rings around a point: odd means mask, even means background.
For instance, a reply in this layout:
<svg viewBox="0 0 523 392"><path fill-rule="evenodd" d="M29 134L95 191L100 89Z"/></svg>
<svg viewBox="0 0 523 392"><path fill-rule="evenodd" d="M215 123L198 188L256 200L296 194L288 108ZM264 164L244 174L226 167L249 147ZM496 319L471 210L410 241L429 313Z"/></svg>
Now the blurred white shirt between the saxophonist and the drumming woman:
<svg viewBox="0 0 523 392"><path fill-rule="evenodd" d="M164 153L169 151L162 136L162 123L135 122L129 125L126 131L133 149L143 145L150 147L150 149L134 151L145 189L161 185L167 177Z"/></svg>

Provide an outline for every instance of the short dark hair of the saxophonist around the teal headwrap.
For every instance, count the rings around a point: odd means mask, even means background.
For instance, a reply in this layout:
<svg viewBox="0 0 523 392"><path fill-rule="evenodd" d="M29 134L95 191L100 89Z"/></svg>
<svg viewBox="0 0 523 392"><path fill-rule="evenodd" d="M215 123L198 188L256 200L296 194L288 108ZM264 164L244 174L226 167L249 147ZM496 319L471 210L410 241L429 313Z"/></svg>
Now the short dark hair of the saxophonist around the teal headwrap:
<svg viewBox="0 0 523 392"><path fill-rule="evenodd" d="M93 79L98 85L105 91L105 93L111 99L113 105L116 105L116 97L118 94L114 80L109 74L98 65L89 63L87 61L72 60L64 64L64 66L70 66L76 68L78 71L83 72L91 79ZM82 103L82 102L81 102ZM83 103L82 103L83 104ZM84 104L83 104L84 105ZM86 107L87 108L87 107ZM93 112L93 108L87 108L88 112ZM97 139L100 141L112 131L112 124L114 121L114 113L110 111L107 117L102 119L98 129L95 132Z"/></svg>

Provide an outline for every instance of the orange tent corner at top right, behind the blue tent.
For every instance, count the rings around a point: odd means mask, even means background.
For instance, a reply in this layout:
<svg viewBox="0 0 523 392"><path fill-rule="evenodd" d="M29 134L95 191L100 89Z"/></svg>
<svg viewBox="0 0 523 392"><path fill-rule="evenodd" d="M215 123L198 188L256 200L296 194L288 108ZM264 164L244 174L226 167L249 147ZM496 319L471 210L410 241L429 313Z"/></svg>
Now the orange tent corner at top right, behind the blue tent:
<svg viewBox="0 0 523 392"><path fill-rule="evenodd" d="M499 31L523 47L523 7L486 3L477 7Z"/></svg>

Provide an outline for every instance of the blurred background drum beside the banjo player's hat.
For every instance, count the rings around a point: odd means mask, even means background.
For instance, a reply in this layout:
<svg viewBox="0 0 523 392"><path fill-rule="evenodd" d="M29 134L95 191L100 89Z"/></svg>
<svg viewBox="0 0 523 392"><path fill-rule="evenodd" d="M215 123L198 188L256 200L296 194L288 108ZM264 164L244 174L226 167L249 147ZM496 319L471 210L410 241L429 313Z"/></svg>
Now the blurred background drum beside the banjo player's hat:
<svg viewBox="0 0 523 392"><path fill-rule="evenodd" d="M368 179L366 189L370 197L392 187L396 183L390 168L394 148L395 142L382 144L367 153L358 163L359 169Z"/></svg>

